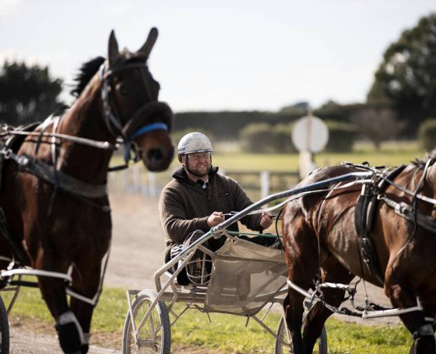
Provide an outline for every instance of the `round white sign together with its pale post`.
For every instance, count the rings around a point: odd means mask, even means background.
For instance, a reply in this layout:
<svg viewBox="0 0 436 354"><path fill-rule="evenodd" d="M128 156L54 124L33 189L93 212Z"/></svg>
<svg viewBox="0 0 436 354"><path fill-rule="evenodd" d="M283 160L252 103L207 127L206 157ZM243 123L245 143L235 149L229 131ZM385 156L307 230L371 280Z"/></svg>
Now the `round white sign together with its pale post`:
<svg viewBox="0 0 436 354"><path fill-rule="evenodd" d="M323 150L327 145L329 129L323 120L309 111L305 117L297 120L291 132L291 140L300 151L300 179L303 179L314 171L313 154Z"/></svg>

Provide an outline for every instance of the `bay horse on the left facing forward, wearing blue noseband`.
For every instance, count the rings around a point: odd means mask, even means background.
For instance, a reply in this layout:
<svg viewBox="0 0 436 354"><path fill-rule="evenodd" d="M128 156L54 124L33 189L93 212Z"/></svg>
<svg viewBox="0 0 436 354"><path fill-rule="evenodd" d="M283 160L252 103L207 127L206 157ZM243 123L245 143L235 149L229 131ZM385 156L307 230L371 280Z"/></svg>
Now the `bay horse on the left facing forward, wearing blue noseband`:
<svg viewBox="0 0 436 354"><path fill-rule="evenodd" d="M0 269L28 265L71 277L68 288L65 279L37 277L64 353L88 351L111 242L113 150L122 140L125 160L134 153L150 171L167 169L174 155L172 111L158 102L159 84L147 67L156 37L152 28L139 50L120 52L112 31L107 59L83 64L71 108L30 129L15 149L1 145Z"/></svg>

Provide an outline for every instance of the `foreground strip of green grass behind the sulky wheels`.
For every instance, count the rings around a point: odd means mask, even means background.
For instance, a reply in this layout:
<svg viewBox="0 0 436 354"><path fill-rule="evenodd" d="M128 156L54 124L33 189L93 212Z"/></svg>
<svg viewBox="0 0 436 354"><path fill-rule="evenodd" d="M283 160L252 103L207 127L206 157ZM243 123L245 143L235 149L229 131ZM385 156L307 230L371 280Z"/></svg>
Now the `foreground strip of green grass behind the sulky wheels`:
<svg viewBox="0 0 436 354"><path fill-rule="evenodd" d="M10 294L2 293L2 297L8 303ZM91 344L110 345L119 349L126 311L125 290L106 288L93 316ZM48 327L54 325L37 289L21 290L10 318L15 323L42 322ZM272 353L273 337L254 321L245 327L244 317L211 314L210 318L212 324L205 314L197 310L188 310L183 314L172 327L173 352L176 353L178 346L189 346L219 353ZM266 323L275 331L279 316L273 313L266 319ZM327 322L327 337L329 353L335 354L408 353L411 344L410 335L402 326L363 326L335 319Z"/></svg>

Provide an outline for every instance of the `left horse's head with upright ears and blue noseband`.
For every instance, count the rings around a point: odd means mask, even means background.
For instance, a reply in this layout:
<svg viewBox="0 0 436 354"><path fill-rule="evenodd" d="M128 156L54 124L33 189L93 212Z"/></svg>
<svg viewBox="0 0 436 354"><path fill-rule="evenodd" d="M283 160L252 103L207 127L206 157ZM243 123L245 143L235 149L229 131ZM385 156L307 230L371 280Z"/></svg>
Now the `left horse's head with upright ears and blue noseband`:
<svg viewBox="0 0 436 354"><path fill-rule="evenodd" d="M121 52L114 32L109 37L108 56L100 69L102 109L113 136L121 136L125 160L143 160L150 171L166 169L174 156L169 135L172 111L158 101L159 84L147 67L147 59L158 32L150 30L145 44L135 53Z"/></svg>

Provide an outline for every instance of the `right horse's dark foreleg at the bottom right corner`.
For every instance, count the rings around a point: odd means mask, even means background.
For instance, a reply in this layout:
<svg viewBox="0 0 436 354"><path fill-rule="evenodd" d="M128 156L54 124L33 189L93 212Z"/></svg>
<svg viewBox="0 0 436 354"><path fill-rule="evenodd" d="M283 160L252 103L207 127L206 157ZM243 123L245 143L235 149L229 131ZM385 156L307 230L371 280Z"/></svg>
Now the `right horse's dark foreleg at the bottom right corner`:
<svg viewBox="0 0 436 354"><path fill-rule="evenodd" d="M391 283L386 289L394 307L410 308L417 305L413 292L399 283ZM436 353L435 329L424 317L422 311L400 315L401 321L413 335L410 354Z"/></svg>

